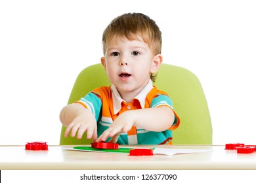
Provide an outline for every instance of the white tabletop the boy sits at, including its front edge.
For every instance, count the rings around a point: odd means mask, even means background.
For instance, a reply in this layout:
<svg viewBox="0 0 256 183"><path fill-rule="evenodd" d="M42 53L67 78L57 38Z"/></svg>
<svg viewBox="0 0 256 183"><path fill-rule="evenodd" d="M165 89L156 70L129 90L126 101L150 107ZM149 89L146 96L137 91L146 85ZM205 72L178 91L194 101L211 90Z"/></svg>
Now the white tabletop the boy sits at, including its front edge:
<svg viewBox="0 0 256 183"><path fill-rule="evenodd" d="M256 169L256 152L238 154L224 146L154 146L173 150L205 150L172 156L129 156L127 153L84 152L74 146L49 146L47 151L0 146L0 169ZM129 146L125 146L129 147ZM139 146L150 148L153 146ZM70 148L70 149L69 149Z"/></svg>

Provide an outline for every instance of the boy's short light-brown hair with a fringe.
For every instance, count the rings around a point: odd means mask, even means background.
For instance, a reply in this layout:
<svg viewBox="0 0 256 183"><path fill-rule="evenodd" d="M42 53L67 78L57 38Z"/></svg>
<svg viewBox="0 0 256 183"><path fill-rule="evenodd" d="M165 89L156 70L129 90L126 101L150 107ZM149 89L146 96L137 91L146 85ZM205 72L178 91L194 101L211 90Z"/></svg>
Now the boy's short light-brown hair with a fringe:
<svg viewBox="0 0 256 183"><path fill-rule="evenodd" d="M142 13L127 13L117 16L102 35L103 52L113 37L125 37L129 41L138 35L148 44L154 55L161 54L161 31L156 22ZM154 81L156 76L150 78Z"/></svg>

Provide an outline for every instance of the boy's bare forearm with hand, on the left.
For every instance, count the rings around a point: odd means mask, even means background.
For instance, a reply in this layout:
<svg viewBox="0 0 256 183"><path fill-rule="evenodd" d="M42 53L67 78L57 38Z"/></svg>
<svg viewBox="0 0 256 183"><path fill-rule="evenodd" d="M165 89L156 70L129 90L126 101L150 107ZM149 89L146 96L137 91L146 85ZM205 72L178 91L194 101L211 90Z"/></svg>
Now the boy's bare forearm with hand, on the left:
<svg viewBox="0 0 256 183"><path fill-rule="evenodd" d="M87 139L93 138L93 141L97 139L96 120L93 113L80 105L74 103L66 105L60 112L60 122L67 127L64 136L75 137L77 133L77 139L81 139L83 133L87 132Z"/></svg>

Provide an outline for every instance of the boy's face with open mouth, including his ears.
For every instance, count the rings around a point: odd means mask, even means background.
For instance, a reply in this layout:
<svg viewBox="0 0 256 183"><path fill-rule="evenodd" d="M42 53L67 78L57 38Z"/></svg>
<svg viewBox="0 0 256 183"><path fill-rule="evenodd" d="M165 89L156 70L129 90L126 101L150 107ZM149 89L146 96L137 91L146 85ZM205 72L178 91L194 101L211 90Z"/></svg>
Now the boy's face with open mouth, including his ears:
<svg viewBox="0 0 256 183"><path fill-rule="evenodd" d="M148 84L150 75L158 71L161 61L161 55L154 56L140 36L133 41L114 37L106 46L105 57L101 58L110 82L123 98L125 95L135 97Z"/></svg>

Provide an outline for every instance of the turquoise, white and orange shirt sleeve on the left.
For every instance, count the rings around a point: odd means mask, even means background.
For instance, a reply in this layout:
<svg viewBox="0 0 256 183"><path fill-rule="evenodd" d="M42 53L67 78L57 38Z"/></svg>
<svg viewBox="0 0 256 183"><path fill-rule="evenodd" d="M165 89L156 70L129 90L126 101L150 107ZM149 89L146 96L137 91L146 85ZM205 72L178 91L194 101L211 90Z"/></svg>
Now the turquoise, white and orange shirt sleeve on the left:
<svg viewBox="0 0 256 183"><path fill-rule="evenodd" d="M100 116L101 108L102 108L102 100L100 98L100 93L96 91L89 92L85 97L82 97L79 101L75 101L75 103L79 103L83 105L83 107L88 108L95 115L96 122Z"/></svg>

